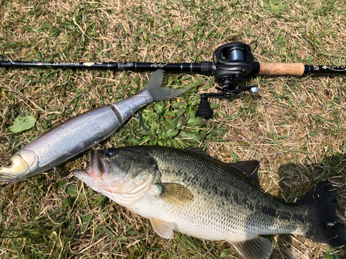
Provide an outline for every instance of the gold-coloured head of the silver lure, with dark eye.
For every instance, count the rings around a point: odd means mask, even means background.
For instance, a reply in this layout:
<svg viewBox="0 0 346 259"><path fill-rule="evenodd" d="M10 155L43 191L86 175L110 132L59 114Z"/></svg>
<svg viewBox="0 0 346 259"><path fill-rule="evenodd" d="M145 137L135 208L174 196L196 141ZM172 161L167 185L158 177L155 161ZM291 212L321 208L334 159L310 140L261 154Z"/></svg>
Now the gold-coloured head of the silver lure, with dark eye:
<svg viewBox="0 0 346 259"><path fill-rule="evenodd" d="M0 167L0 181L15 182L37 173L38 159L32 151L21 149Z"/></svg>

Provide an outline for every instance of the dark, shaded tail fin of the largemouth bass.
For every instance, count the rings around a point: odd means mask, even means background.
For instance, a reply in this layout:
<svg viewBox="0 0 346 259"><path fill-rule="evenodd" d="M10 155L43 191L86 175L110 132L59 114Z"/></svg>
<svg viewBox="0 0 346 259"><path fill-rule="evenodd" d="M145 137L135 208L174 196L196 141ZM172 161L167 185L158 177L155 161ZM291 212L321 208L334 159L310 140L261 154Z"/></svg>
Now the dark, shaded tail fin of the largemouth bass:
<svg viewBox="0 0 346 259"><path fill-rule="evenodd" d="M336 215L338 193L331 182L320 182L297 203L306 207L311 217L306 238L335 247L346 244L345 225L339 222Z"/></svg>

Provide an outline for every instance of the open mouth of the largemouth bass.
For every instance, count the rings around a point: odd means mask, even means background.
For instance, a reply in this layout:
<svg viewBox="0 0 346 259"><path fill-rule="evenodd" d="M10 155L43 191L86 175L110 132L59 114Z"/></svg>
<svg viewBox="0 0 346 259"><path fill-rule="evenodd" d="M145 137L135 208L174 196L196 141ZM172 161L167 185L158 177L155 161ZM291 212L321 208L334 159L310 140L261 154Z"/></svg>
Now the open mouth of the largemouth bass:
<svg viewBox="0 0 346 259"><path fill-rule="evenodd" d="M89 152L90 166L86 170L74 170L73 175L78 178L81 173L88 175L90 178L98 178L101 175L108 174L111 171L109 162L100 157L99 152L92 150Z"/></svg>

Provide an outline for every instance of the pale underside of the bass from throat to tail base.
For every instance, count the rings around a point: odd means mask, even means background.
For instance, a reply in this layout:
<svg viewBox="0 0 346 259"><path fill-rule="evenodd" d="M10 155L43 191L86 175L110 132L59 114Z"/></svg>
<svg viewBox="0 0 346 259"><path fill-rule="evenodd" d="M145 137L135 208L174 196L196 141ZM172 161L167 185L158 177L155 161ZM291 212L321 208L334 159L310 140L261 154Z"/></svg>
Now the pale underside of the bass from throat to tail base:
<svg viewBox="0 0 346 259"><path fill-rule="evenodd" d="M175 231L206 240L241 242L258 235L302 235L305 231L296 222L268 217L260 211L233 207L212 198L200 197L175 204L149 192L128 208L145 218L173 222Z"/></svg>

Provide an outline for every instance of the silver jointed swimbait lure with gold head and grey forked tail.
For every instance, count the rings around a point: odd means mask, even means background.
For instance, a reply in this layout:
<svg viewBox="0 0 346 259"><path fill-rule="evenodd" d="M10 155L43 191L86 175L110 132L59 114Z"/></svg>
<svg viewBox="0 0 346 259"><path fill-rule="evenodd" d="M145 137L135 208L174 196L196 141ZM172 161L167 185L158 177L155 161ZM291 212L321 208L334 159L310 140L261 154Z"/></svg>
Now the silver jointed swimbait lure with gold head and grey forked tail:
<svg viewBox="0 0 346 259"><path fill-rule="evenodd" d="M163 72L156 70L140 93L73 117L30 142L1 166L0 180L24 180L54 168L112 135L145 104L188 90L161 87Z"/></svg>

